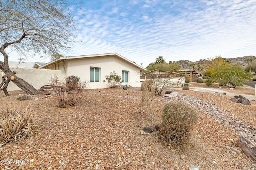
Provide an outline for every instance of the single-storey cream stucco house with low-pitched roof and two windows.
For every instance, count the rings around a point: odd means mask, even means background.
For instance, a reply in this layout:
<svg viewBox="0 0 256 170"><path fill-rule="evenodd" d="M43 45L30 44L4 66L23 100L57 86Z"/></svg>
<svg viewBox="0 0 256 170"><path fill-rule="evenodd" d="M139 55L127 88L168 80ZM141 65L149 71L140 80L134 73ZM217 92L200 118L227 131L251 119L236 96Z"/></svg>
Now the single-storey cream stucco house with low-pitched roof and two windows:
<svg viewBox="0 0 256 170"><path fill-rule="evenodd" d="M89 82L88 88L107 88L106 76L112 71L121 76L124 85L140 86L140 71L146 70L117 53L60 57L38 68L62 70L65 76L78 76L81 81Z"/></svg>

